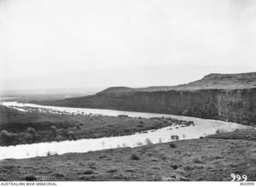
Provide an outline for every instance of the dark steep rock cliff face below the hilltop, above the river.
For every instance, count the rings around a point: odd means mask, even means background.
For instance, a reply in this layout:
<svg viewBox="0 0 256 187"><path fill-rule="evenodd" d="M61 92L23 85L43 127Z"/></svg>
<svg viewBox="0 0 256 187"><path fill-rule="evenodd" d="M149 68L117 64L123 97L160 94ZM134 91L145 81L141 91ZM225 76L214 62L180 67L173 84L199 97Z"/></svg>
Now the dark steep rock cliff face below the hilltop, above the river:
<svg viewBox="0 0 256 187"><path fill-rule="evenodd" d="M256 126L256 88L96 94L52 105L196 116Z"/></svg>

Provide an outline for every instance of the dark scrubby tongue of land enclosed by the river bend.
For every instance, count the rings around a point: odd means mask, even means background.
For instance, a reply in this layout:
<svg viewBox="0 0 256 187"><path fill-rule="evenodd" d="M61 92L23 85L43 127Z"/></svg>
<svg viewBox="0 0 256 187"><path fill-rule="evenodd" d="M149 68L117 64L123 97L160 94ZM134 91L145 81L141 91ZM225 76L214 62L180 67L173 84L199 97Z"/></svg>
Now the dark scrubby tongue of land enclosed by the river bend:
<svg viewBox="0 0 256 187"><path fill-rule="evenodd" d="M17 139L10 144L31 144L66 139L94 139L118 135L128 135L179 123L171 118L132 118L127 116L71 116L38 112L20 112L0 105L0 132L7 130L17 133ZM54 137L51 127L58 129ZM27 127L33 127L37 136L26 139ZM65 132L73 136L66 137ZM0 137L1 138L1 137ZM9 145L0 139L0 145Z"/></svg>

